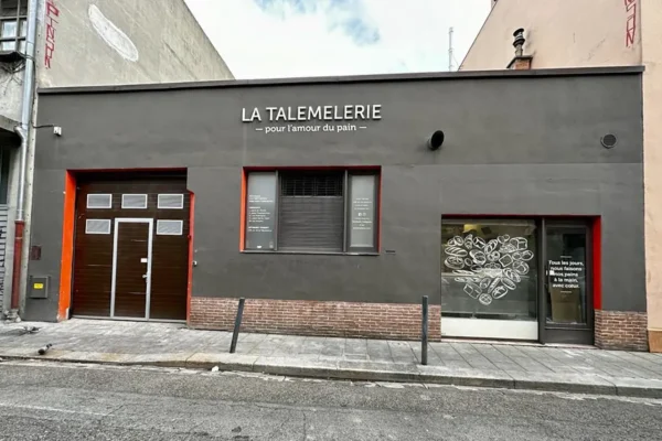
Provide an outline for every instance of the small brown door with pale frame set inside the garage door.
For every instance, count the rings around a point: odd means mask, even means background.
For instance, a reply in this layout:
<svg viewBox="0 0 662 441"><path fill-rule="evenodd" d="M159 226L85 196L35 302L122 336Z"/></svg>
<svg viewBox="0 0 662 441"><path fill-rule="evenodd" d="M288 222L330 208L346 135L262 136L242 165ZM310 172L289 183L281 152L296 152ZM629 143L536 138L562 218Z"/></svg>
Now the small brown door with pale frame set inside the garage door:
<svg viewBox="0 0 662 441"><path fill-rule="evenodd" d="M149 319L152 227L150 218L116 218L110 316Z"/></svg>

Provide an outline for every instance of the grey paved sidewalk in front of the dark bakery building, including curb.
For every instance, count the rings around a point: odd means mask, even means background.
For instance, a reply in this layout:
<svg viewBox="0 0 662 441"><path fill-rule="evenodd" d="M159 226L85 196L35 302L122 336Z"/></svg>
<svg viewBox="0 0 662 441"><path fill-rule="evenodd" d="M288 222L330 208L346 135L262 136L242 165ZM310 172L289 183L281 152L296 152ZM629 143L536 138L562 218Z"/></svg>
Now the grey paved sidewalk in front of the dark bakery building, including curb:
<svg viewBox="0 0 662 441"><path fill-rule="evenodd" d="M39 326L23 334L23 326ZM0 357L259 372L363 381L435 383L662 398L662 354L488 343L193 331L182 324L70 320L0 324ZM38 349L53 347L40 356Z"/></svg>

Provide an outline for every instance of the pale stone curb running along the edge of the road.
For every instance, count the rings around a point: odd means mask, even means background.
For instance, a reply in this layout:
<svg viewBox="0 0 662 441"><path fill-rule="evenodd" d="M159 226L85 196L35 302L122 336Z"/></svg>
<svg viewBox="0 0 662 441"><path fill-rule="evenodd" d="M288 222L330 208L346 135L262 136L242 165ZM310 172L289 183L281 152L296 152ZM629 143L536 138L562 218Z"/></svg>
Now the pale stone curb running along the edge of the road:
<svg viewBox="0 0 662 441"><path fill-rule="evenodd" d="M60 363L93 363L119 366L158 366L191 369L250 372L290 377L360 381L427 383L569 394L589 394L662 399L662 380L617 378L600 375L535 374L457 369L378 362L260 357L244 354L114 354L50 351L0 351L2 359Z"/></svg>

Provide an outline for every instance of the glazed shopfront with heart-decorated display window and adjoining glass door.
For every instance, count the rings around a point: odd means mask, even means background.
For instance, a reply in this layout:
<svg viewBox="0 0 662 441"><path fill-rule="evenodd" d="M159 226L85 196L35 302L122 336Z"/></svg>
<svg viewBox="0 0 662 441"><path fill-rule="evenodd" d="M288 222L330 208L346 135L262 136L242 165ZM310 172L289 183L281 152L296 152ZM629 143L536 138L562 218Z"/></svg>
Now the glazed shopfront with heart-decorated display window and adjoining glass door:
<svg viewBox="0 0 662 441"><path fill-rule="evenodd" d="M590 225L444 218L441 335L592 344Z"/></svg>

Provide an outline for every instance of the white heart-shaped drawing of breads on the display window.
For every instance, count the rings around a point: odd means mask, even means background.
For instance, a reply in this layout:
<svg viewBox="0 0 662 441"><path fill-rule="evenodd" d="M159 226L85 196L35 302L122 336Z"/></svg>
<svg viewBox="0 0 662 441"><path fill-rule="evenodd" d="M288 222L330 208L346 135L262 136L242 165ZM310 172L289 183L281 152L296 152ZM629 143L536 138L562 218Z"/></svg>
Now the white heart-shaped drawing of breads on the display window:
<svg viewBox="0 0 662 441"><path fill-rule="evenodd" d="M524 237L501 235L495 239L468 234L450 238L445 247L444 265L455 281L463 283L467 295L489 305L504 298L530 271L534 254Z"/></svg>

